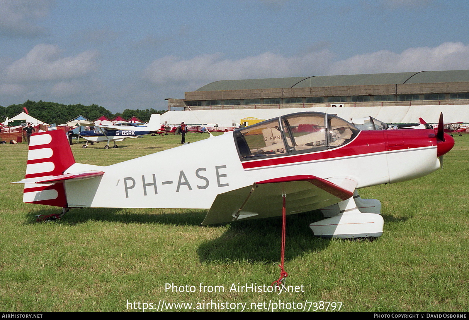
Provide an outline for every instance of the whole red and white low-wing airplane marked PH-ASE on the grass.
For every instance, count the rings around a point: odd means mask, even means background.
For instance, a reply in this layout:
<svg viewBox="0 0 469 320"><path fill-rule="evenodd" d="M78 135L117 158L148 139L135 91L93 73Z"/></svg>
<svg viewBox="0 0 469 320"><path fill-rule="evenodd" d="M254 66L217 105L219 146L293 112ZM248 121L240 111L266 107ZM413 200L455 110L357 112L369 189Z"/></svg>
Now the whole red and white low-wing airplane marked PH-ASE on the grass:
<svg viewBox="0 0 469 320"><path fill-rule="evenodd" d="M26 179L14 183L25 183L26 203L209 209L203 224L280 216L285 199L287 214L322 209L316 236L379 237L381 204L356 189L428 175L453 145L442 130L360 131L301 112L100 167L75 163L65 135L50 131L31 136Z"/></svg>

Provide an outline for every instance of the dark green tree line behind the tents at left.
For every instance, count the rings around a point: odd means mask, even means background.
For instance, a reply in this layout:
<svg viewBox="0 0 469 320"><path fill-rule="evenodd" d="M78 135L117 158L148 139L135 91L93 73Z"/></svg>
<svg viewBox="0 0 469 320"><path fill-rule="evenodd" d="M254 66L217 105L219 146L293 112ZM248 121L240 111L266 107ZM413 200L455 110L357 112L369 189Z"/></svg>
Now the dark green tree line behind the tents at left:
<svg viewBox="0 0 469 320"><path fill-rule="evenodd" d="M67 121L79 115L87 117L91 121L98 119L100 116L106 116L110 120L116 116L121 116L126 120L135 116L143 122L148 122L150 120L151 114L163 114L166 112L166 110L155 109L125 109L122 112L112 113L108 109L97 104L91 104L89 106L85 106L81 103L66 105L57 102L35 102L28 100L22 104L12 104L8 107L0 106L0 122L5 121L6 117L12 118L23 112L23 108L28 110L30 116L35 117L36 119L47 124L65 124Z"/></svg>

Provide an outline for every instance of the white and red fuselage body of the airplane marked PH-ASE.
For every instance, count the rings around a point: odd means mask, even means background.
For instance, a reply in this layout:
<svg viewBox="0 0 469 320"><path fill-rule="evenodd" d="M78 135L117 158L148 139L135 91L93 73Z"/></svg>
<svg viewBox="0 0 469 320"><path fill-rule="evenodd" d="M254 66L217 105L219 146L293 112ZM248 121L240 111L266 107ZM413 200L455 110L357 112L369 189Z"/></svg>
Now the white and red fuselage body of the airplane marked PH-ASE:
<svg viewBox="0 0 469 320"><path fill-rule="evenodd" d="M157 169L167 157L171 166ZM219 193L283 176L348 176L364 188L428 175L439 166L431 130L360 131L332 150L248 161L240 160L230 132L108 167L76 163L67 171L105 174L66 182L65 188L70 207L208 209Z"/></svg>

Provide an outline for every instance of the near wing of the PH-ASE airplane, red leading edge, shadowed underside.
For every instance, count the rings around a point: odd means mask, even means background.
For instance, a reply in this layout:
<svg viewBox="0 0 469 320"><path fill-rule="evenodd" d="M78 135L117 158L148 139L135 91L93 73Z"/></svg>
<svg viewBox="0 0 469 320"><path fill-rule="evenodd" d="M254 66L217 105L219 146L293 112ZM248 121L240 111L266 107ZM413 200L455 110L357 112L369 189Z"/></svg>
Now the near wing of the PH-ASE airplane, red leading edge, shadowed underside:
<svg viewBox="0 0 469 320"><path fill-rule="evenodd" d="M256 182L219 194L202 224L280 216L282 195L286 195L287 214L324 208L353 196L356 184L349 177L322 179L313 175Z"/></svg>

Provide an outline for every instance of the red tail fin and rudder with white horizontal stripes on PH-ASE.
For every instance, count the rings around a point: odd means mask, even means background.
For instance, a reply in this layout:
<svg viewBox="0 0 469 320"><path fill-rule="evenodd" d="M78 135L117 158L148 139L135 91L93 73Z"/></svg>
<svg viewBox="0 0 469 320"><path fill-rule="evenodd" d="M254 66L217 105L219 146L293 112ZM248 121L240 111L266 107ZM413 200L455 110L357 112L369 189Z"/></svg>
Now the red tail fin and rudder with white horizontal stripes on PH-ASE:
<svg viewBox="0 0 469 320"><path fill-rule="evenodd" d="M26 166L26 179L62 175L75 163L67 136L62 130L31 135ZM23 202L67 207L63 183L26 183Z"/></svg>

